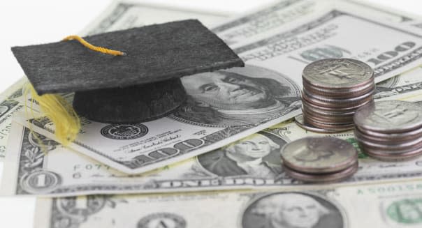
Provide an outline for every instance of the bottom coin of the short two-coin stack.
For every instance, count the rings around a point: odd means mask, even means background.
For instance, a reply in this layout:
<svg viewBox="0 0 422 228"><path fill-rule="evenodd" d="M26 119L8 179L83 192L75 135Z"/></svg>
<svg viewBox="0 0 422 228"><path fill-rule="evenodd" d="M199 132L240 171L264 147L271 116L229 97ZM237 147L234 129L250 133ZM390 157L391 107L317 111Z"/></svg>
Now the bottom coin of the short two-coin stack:
<svg viewBox="0 0 422 228"><path fill-rule="evenodd" d="M358 171L358 162L351 167L348 167L340 172L333 172L328 174L307 174L298 172L289 167L283 165L283 170L288 176L295 178L299 181L311 182L311 183L331 183L337 181L344 181L347 178L353 176Z"/></svg>

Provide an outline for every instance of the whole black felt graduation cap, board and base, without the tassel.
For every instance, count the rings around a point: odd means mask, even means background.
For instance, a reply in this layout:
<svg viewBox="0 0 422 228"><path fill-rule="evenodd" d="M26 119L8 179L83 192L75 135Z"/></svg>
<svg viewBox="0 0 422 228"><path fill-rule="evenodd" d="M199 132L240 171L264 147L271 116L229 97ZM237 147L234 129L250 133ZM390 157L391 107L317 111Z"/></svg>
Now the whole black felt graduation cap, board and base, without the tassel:
<svg viewBox="0 0 422 228"><path fill-rule="evenodd" d="M180 77L244 66L242 60L198 20L154 24L84 38L119 50L111 56L76 40L13 47L39 95L75 92L81 116L105 123L157 119L184 102Z"/></svg>

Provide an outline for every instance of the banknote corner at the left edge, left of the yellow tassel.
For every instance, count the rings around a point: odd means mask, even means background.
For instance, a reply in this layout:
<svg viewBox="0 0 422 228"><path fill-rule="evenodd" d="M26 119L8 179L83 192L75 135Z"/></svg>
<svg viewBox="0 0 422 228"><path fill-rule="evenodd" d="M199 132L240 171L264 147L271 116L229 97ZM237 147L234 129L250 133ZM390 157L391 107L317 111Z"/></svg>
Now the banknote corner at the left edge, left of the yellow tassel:
<svg viewBox="0 0 422 228"><path fill-rule="evenodd" d="M24 108L19 98L22 97L22 87L26 82L27 79L22 78L0 94L0 160L5 156L12 116Z"/></svg>

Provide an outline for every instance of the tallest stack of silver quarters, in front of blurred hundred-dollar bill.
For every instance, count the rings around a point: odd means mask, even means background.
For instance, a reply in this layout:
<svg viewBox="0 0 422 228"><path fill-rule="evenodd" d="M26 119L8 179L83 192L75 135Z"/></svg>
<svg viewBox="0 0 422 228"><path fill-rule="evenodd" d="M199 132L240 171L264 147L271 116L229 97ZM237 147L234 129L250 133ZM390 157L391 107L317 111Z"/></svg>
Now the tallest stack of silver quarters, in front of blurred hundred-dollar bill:
<svg viewBox="0 0 422 228"><path fill-rule="evenodd" d="M356 110L373 101L374 72L358 60L314 61L305 67L302 78L302 127L310 125L330 132L351 130Z"/></svg>

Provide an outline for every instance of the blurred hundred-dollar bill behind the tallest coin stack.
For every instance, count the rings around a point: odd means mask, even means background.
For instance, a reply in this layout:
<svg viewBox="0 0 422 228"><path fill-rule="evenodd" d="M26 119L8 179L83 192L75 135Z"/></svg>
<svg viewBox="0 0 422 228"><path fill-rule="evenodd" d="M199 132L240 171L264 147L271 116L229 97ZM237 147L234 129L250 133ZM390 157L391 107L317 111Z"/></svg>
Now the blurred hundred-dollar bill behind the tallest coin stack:
<svg viewBox="0 0 422 228"><path fill-rule="evenodd" d="M303 68L319 59L364 61L374 69L376 82L422 64L422 36L415 29L361 14L344 4L308 16L286 24L282 31L263 33L232 48L247 63L275 70L298 84L302 84ZM344 77L338 67L333 74Z"/></svg>

